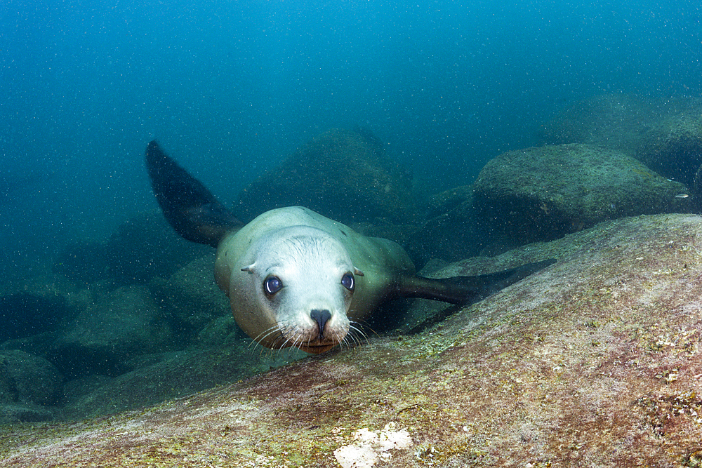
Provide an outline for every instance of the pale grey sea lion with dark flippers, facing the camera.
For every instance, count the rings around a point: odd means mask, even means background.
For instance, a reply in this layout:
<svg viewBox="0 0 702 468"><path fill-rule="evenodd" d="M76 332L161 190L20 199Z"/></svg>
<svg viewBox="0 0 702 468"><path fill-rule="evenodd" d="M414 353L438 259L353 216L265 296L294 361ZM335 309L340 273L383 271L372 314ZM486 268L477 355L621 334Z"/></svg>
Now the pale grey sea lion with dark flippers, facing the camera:
<svg viewBox="0 0 702 468"><path fill-rule="evenodd" d="M234 319L265 347L322 353L348 342L355 323L395 297L469 304L555 260L482 276L415 274L399 244L358 234L301 206L277 208L244 225L156 141L146 166L166 220L190 241L217 248L215 279Z"/></svg>

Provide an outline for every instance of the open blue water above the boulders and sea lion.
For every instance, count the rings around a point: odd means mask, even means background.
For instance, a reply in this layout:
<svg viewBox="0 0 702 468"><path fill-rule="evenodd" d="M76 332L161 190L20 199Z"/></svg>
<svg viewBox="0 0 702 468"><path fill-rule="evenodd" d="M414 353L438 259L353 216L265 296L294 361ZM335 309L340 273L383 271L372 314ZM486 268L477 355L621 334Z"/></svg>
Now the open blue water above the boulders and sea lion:
<svg viewBox="0 0 702 468"><path fill-rule="evenodd" d="M581 98L699 96L701 18L674 0L4 0L1 272L155 209L152 138L225 201L358 124L431 189L466 185Z"/></svg>

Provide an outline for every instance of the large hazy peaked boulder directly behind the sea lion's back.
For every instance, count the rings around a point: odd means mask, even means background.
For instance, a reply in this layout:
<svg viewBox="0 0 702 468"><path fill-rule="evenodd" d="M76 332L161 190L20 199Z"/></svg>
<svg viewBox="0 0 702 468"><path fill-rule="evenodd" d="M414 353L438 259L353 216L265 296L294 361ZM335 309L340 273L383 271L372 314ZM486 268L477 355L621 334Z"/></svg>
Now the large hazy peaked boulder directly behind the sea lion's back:
<svg viewBox="0 0 702 468"><path fill-rule="evenodd" d="M387 218L405 224L414 216L411 179L367 131L333 129L313 138L239 196L237 212L252 219L272 208L306 206L333 220Z"/></svg>

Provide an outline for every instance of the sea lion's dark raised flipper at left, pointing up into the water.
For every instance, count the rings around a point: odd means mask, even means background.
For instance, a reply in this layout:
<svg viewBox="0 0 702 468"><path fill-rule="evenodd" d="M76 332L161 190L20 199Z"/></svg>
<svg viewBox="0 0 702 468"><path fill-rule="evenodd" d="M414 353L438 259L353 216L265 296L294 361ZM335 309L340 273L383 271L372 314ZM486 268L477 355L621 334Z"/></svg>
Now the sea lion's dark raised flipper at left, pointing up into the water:
<svg viewBox="0 0 702 468"><path fill-rule="evenodd" d="M154 140L146 148L146 168L168 223L188 241L216 247L243 223L196 178L178 166Z"/></svg>

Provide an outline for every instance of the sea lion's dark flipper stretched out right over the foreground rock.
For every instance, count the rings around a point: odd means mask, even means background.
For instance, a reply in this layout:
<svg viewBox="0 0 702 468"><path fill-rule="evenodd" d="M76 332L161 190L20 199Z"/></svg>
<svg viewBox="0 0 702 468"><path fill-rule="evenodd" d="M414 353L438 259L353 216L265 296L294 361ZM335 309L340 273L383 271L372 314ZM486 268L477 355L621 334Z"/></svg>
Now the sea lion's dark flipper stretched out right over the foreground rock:
<svg viewBox="0 0 702 468"><path fill-rule="evenodd" d="M421 297L441 300L451 304L468 305L498 292L540 269L552 265L556 260L528 263L521 267L505 269L503 272L479 276L453 276L430 279L423 276L404 277L398 281L395 292L398 297Z"/></svg>

